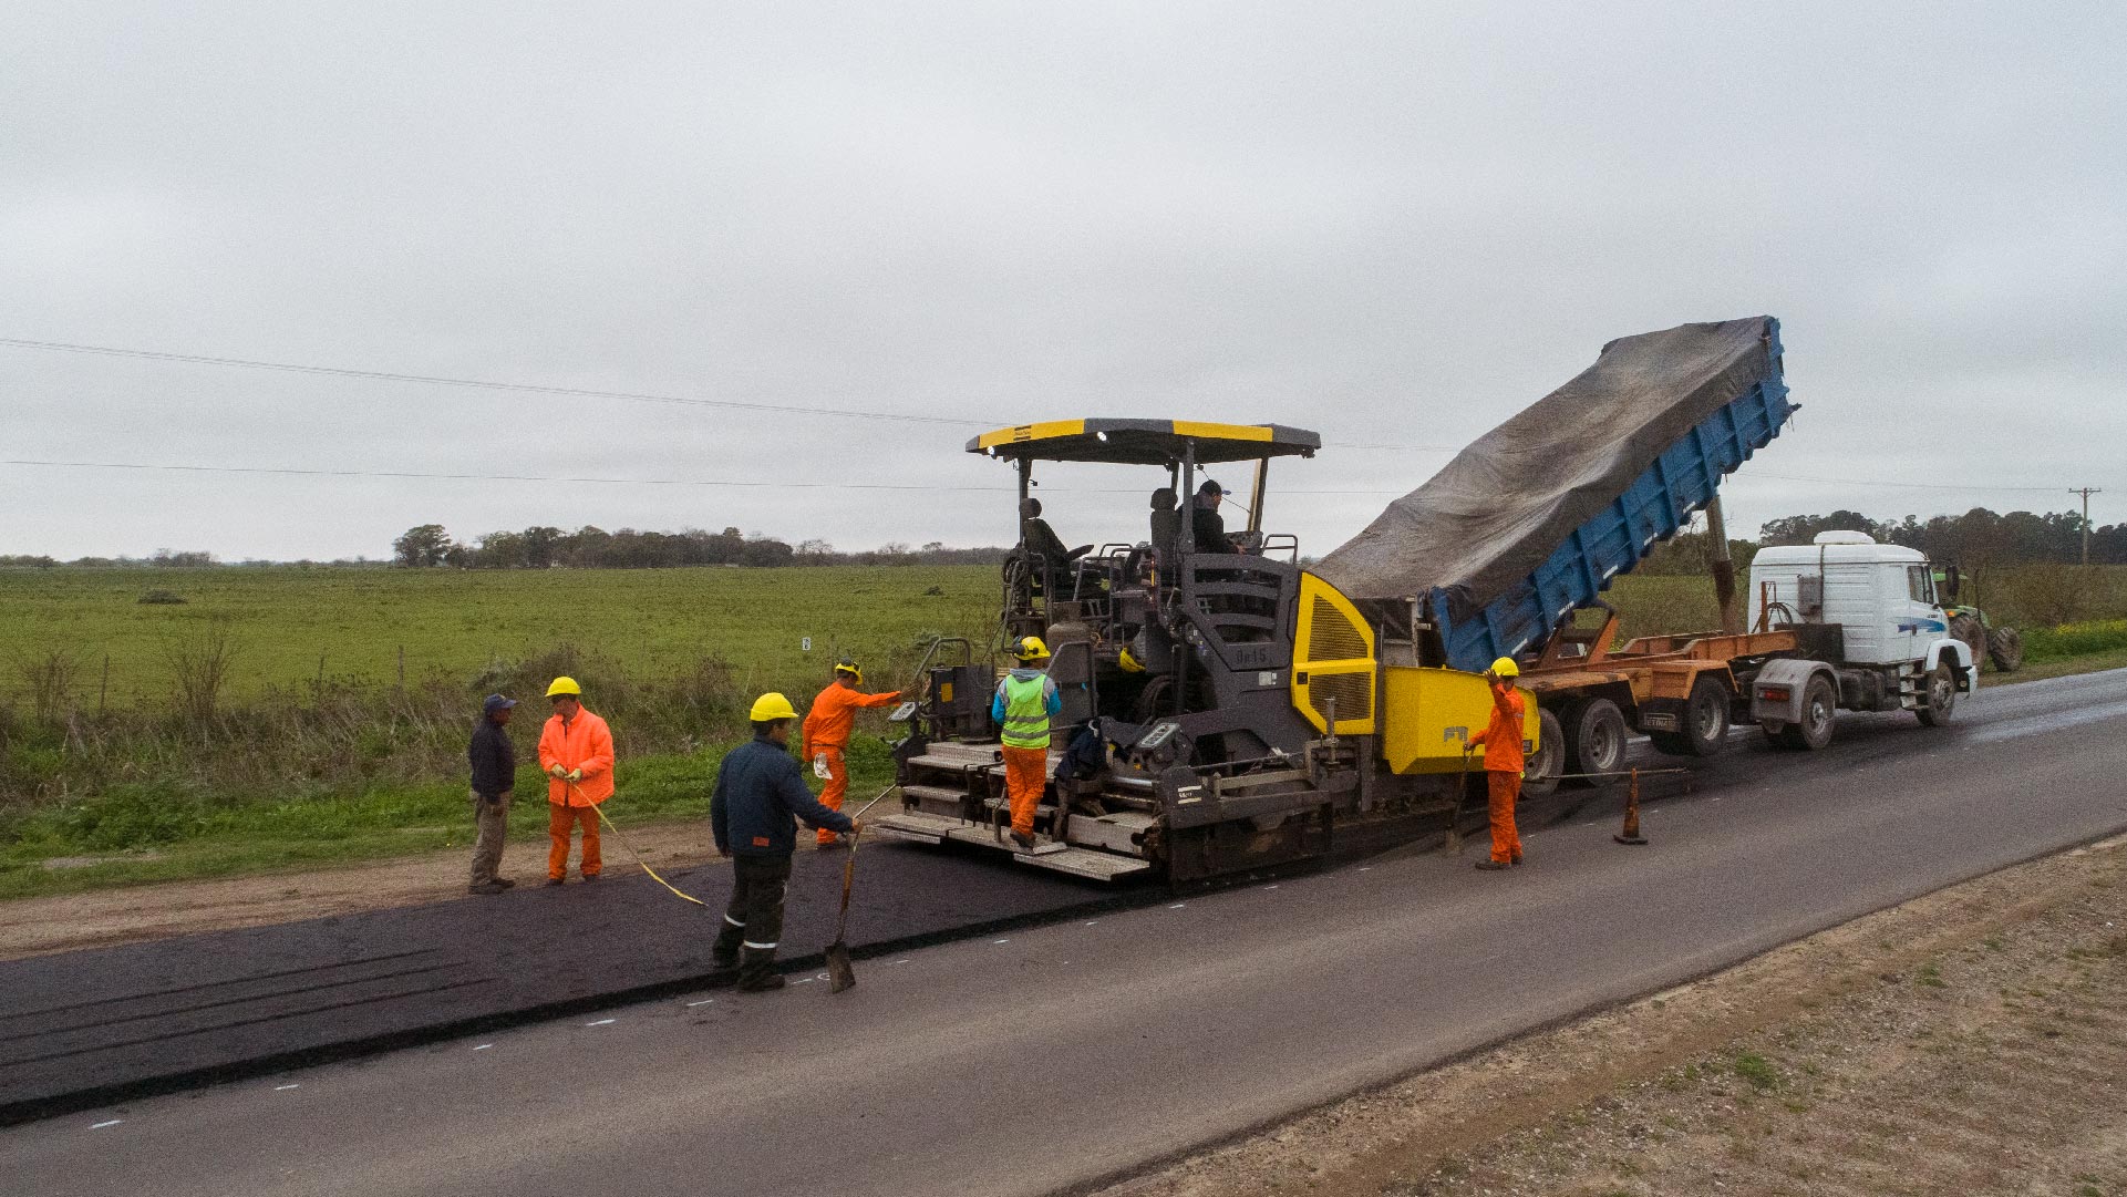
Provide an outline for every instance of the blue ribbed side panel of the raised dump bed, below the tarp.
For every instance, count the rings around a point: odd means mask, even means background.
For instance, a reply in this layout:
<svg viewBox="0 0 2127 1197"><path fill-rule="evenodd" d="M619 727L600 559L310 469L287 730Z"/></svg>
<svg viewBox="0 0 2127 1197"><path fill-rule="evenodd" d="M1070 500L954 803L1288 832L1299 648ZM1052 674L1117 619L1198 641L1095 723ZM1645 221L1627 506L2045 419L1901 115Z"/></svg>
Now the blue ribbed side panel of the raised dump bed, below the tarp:
<svg viewBox="0 0 2127 1197"><path fill-rule="evenodd" d="M1485 670L1497 657L1540 648L1565 614L1593 606L1612 578L1704 510L1723 476L1780 436L1795 404L1780 378L1776 325L1772 336L1770 366L1757 383L1670 444L1519 583L1459 621L1451 619L1444 589L1427 593L1451 665Z"/></svg>

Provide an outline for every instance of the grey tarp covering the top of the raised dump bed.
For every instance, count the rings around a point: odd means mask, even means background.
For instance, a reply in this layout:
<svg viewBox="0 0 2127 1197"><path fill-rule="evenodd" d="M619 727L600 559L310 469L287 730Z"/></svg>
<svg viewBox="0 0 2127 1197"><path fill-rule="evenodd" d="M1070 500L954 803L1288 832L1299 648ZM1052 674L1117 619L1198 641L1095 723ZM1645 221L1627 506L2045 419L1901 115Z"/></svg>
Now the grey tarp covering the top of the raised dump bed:
<svg viewBox="0 0 2127 1197"><path fill-rule="evenodd" d="M1595 366L1457 453L1314 572L1376 614L1431 587L1448 591L1457 619L1483 608L1763 378L1770 330L1770 317L1751 317L1612 340Z"/></svg>

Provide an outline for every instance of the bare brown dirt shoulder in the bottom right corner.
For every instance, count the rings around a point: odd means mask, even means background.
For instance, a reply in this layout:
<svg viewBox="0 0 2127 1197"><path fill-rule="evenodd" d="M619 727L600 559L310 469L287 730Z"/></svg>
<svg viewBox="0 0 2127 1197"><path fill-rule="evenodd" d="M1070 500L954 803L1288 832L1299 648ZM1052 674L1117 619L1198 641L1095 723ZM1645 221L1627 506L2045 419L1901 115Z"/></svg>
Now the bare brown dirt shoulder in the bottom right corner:
<svg viewBox="0 0 2127 1197"><path fill-rule="evenodd" d="M2127 840L1965 882L1106 1197L2127 1195Z"/></svg>

